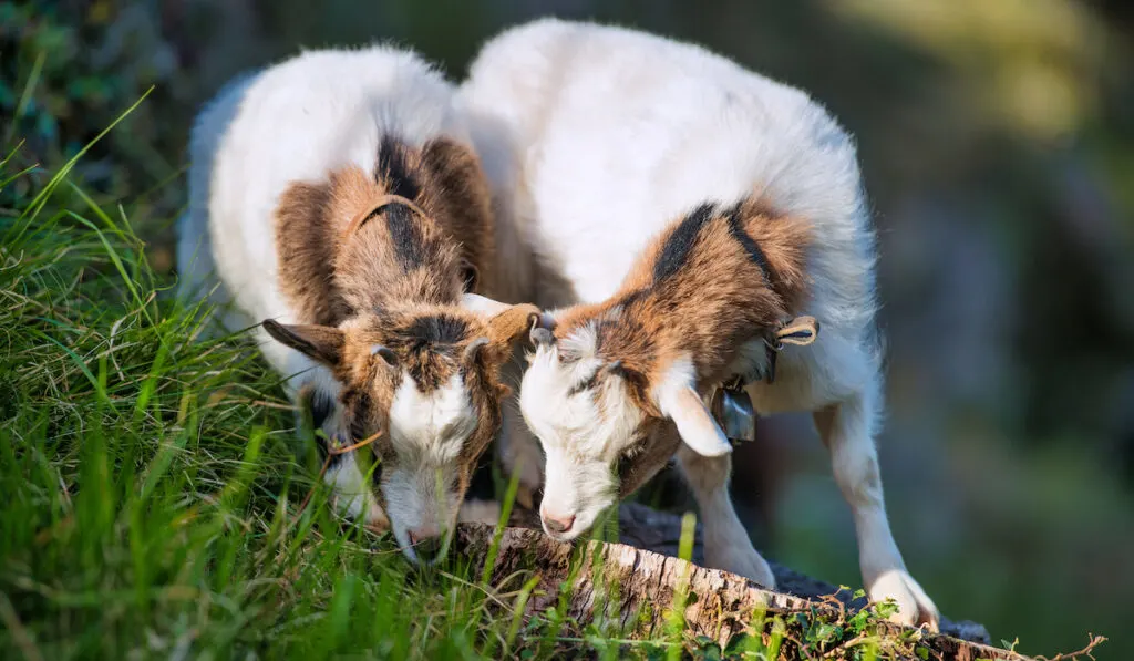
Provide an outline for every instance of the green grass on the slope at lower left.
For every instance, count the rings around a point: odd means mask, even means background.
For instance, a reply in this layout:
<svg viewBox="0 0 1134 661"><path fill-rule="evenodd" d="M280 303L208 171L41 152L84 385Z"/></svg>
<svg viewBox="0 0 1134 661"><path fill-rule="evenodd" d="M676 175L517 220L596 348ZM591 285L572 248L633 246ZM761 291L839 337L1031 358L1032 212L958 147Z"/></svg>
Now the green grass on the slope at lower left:
<svg viewBox="0 0 1134 661"><path fill-rule="evenodd" d="M603 605L617 585L578 622L570 578L526 618L531 573L412 568L330 514L278 378L239 333L204 339L206 311L70 166L0 209L0 659L874 658L870 620L754 613L761 635L722 651L676 611L633 639Z"/></svg>

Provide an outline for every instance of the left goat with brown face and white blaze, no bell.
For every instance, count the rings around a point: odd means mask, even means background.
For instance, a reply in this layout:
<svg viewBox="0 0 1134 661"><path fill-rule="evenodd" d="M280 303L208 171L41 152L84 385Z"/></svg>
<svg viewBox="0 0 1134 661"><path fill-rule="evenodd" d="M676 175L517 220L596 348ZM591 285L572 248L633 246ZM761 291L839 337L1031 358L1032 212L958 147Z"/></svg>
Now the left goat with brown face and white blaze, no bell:
<svg viewBox="0 0 1134 661"><path fill-rule="evenodd" d="M498 286L499 232L454 92L387 46L234 82L193 129L179 224L180 296L229 330L263 320L263 355L335 443L339 509L414 561L446 552L538 312L474 293Z"/></svg>

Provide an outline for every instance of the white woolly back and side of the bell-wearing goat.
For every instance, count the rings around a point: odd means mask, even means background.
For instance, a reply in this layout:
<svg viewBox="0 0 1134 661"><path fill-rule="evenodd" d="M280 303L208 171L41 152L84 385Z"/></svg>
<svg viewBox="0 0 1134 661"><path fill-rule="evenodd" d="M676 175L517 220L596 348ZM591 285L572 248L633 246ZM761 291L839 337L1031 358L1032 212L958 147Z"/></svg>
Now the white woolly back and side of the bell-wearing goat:
<svg viewBox="0 0 1134 661"><path fill-rule="evenodd" d="M699 204L762 196L813 224L807 312L824 333L870 334L874 239L855 149L803 92L695 45L545 19L490 42L462 94L494 124L519 222L570 298L613 294L649 239Z"/></svg>

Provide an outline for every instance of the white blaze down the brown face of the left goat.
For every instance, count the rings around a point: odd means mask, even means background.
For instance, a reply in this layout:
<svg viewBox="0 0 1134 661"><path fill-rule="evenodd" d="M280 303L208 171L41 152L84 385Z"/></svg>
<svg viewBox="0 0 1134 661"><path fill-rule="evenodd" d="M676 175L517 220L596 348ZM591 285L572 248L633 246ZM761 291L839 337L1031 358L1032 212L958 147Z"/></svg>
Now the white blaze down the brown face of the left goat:
<svg viewBox="0 0 1134 661"><path fill-rule="evenodd" d="M390 443L398 458L382 475L382 493L393 535L411 560L417 561L411 531L452 528L463 497L456 490L458 457L476 424L460 374L424 395L403 373L390 404Z"/></svg>

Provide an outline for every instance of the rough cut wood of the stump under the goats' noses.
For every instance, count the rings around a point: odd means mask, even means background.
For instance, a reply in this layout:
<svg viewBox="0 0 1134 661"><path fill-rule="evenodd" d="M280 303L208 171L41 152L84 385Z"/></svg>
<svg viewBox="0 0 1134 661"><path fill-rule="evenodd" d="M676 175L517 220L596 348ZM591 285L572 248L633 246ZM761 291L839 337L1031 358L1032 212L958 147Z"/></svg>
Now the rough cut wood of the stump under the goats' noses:
<svg viewBox="0 0 1134 661"><path fill-rule="evenodd" d="M818 609L835 618L838 617L840 602L850 610L863 605L852 602L847 591L836 595L838 601L823 599L836 594L838 588L776 562L771 566L777 591L771 592L735 574L680 560L676 557L680 520L674 514L625 503L619 509L623 542L619 544L569 544L557 542L533 527L507 527L502 532L491 573L493 584L517 574L539 575L538 594L528 600L527 610L528 613L541 612L559 601L560 591L569 576L572 557L577 554L577 549L585 548L589 561L582 563L569 583L574 586L568 600L569 617L579 622L595 617L617 618L627 630L637 635L661 635L666 613L684 584L692 595L685 609L686 627L693 635L708 636L721 646L744 632L752 615L759 610L773 616ZM514 516L510 523L532 526L535 522L531 512L523 512ZM462 525L455 539L456 550L483 566L489 557L492 535L492 526ZM701 551L699 526L694 562L701 561ZM601 575L602 579L595 582L596 575ZM617 587L608 591L602 587L604 585ZM603 604L606 608L601 608ZM886 625L886 628L888 636L903 634L903 628L896 625ZM940 635L923 633L923 638L929 659L933 660L1026 660L1023 655L990 646L984 627L971 621L942 620Z"/></svg>

